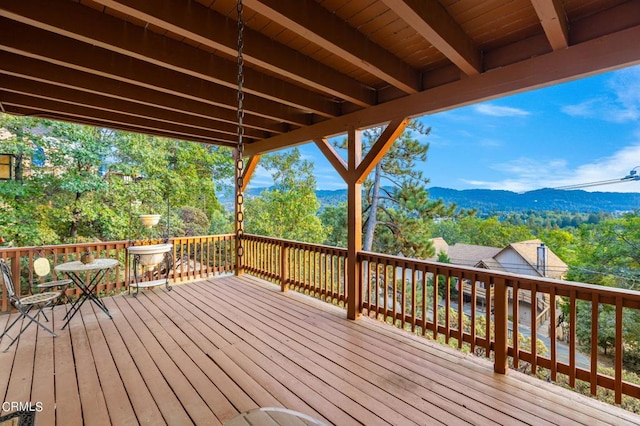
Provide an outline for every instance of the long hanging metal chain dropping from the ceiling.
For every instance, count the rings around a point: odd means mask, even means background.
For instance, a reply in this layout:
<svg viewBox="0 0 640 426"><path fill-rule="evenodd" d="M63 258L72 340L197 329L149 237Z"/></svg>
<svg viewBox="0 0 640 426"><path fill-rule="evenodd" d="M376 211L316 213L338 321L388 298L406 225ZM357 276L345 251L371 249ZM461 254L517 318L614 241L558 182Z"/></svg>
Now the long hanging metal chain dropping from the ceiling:
<svg viewBox="0 0 640 426"><path fill-rule="evenodd" d="M242 17L242 0L238 0L238 145L236 147L236 250L238 258L244 255L244 58L242 50L244 48L244 21Z"/></svg>

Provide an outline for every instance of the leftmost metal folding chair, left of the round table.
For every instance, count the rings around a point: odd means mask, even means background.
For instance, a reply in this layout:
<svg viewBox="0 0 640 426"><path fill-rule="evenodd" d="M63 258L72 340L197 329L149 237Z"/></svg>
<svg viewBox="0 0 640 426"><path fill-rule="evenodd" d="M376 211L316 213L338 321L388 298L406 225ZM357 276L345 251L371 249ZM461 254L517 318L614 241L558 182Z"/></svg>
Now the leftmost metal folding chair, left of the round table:
<svg viewBox="0 0 640 426"><path fill-rule="evenodd" d="M40 316L40 314L42 314L42 316L44 316L44 318L49 321L47 316L44 314L43 309L48 306L52 306L53 303L60 297L61 292L46 291L30 296L18 297L15 292L13 278L11 277L11 270L9 269L9 265L7 265L4 259L0 259L0 281L2 281L2 283L4 284L9 302L14 308L17 309L19 314L18 317L13 320L13 322L7 328L5 328L4 332L0 335L0 339L2 339L5 335L10 338L11 336L7 334L9 330L11 330L11 328L16 325L20 319L27 320L26 324L22 326L18 335L11 340L9 346L6 347L4 352L6 352L16 342L16 340L18 340L20 335L24 333L24 331L33 323L39 325L44 330L51 333L53 337L56 337L56 334L53 332L53 330L38 321L38 317ZM34 309L36 309L35 315L31 313L31 311Z"/></svg>

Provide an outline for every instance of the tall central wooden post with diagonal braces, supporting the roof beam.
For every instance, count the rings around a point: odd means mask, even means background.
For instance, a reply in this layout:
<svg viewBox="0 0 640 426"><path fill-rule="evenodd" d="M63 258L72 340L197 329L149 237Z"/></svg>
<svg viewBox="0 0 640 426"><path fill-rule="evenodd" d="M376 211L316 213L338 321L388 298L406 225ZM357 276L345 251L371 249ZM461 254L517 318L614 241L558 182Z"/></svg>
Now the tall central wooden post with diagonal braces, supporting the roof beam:
<svg viewBox="0 0 640 426"><path fill-rule="evenodd" d="M362 184L356 169L362 158L362 139L354 127L349 129L349 168L347 179L347 318L356 320L362 312L362 283L358 252L362 250Z"/></svg>

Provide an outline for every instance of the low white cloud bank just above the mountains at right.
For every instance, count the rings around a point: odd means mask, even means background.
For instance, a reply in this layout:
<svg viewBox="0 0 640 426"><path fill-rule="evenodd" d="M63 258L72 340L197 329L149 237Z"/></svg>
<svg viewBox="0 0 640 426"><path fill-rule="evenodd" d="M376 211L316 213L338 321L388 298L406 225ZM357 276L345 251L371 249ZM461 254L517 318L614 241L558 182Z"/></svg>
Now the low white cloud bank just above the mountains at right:
<svg viewBox="0 0 640 426"><path fill-rule="evenodd" d="M637 166L640 166L640 142L624 147L609 157L600 158L574 168L568 167L567 162L563 159L545 161L518 158L492 167L492 169L508 173L510 176L506 179L499 181L465 180L465 183L478 188L525 192L540 188L619 180ZM582 189L603 192L640 192L640 181L622 181Z"/></svg>

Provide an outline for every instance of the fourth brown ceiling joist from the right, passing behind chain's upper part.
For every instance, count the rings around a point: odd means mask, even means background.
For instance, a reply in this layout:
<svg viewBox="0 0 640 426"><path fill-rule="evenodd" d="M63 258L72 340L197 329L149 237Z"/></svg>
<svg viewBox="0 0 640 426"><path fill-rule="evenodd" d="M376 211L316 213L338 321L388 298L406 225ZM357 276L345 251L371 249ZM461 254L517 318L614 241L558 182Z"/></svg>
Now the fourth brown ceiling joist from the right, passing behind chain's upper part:
<svg viewBox="0 0 640 426"><path fill-rule="evenodd" d="M197 2L190 2L185 7L182 0L163 0L161 8L155 2L146 0L95 0L95 3L167 29L232 57L237 55L236 22ZM257 31L245 27L243 38L243 56L247 63L361 107L374 105L376 102L373 89L321 62L275 43Z"/></svg>

